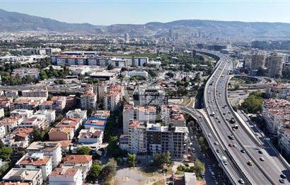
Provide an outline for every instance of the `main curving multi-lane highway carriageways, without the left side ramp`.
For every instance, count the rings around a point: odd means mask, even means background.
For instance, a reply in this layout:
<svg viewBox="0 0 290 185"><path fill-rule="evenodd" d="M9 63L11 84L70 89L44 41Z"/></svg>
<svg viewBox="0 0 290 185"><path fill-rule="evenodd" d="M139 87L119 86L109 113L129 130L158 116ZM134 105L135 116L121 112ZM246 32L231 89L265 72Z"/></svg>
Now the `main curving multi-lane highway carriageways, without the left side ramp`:
<svg viewBox="0 0 290 185"><path fill-rule="evenodd" d="M249 184L290 184L290 179L285 179L290 176L289 166L269 148L262 149L262 142L238 119L228 102L226 87L233 61L226 55L210 54L218 56L219 62L205 86L204 105L220 144L226 146L224 150L238 164Z"/></svg>

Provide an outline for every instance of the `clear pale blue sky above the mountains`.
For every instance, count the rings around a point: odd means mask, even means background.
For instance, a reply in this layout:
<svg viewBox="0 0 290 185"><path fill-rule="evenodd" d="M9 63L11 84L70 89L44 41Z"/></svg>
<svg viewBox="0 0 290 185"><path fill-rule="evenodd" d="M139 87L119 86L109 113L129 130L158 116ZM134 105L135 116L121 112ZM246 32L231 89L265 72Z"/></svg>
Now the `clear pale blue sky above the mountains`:
<svg viewBox="0 0 290 185"><path fill-rule="evenodd" d="M181 19L290 23L290 0L0 0L0 9L94 25Z"/></svg>

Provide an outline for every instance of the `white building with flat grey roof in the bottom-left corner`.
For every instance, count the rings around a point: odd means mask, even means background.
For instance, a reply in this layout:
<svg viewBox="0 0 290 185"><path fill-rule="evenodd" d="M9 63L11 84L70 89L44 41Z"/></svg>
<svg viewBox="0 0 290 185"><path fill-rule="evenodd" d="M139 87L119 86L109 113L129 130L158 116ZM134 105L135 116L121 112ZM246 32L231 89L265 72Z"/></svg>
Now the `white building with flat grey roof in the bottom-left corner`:
<svg viewBox="0 0 290 185"><path fill-rule="evenodd" d="M26 169L26 168L12 168L10 171L2 178L3 181L21 181L28 182L31 185L41 185L42 172L41 169Z"/></svg>

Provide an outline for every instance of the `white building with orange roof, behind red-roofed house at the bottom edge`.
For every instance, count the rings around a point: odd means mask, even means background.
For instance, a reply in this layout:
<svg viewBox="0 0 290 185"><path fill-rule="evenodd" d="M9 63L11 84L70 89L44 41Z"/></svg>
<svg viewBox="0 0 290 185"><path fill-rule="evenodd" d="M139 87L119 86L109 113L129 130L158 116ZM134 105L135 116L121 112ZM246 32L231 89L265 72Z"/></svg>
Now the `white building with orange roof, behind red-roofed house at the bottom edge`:
<svg viewBox="0 0 290 185"><path fill-rule="evenodd" d="M86 179L93 164L91 155L66 155L64 157L64 167L80 167L83 179Z"/></svg>

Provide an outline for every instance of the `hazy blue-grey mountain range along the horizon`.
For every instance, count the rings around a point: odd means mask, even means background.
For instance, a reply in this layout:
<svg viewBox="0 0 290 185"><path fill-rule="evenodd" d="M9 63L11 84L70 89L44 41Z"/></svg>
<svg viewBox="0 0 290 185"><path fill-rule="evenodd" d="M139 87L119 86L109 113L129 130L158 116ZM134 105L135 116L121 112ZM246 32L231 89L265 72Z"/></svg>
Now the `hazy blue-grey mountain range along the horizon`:
<svg viewBox="0 0 290 185"><path fill-rule="evenodd" d="M0 31L56 31L74 33L106 33L130 36L162 36L173 28L175 33L189 35L201 32L214 38L286 39L290 37L290 23L180 20L168 23L114 24L95 26L90 23L64 23L50 18L0 9Z"/></svg>

